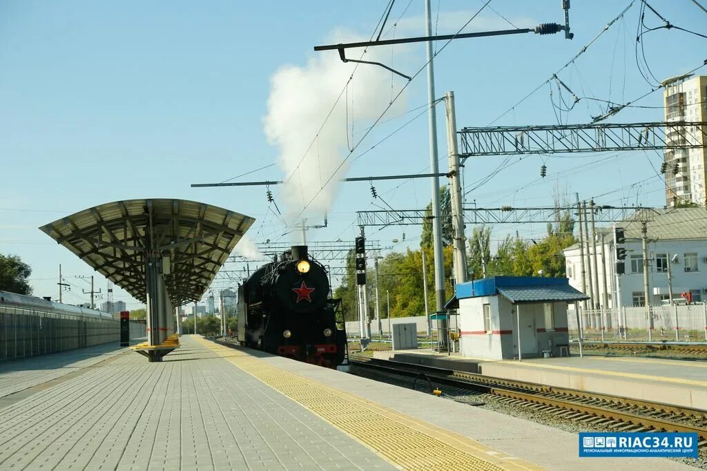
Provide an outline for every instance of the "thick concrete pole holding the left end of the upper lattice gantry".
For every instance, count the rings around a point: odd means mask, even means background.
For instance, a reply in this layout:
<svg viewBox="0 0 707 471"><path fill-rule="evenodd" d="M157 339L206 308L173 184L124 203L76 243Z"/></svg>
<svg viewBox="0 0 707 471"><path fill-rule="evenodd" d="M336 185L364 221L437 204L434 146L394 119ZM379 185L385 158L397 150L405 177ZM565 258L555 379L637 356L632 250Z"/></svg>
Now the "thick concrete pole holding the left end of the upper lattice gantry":
<svg viewBox="0 0 707 471"><path fill-rule="evenodd" d="M450 173L450 199L452 203L452 232L454 245L455 283L466 283L467 274L467 238L464 236L464 209L462 208L462 187L460 186L461 168L459 148L457 146L457 115L454 107L454 92L445 95L447 112L447 146Z"/></svg>

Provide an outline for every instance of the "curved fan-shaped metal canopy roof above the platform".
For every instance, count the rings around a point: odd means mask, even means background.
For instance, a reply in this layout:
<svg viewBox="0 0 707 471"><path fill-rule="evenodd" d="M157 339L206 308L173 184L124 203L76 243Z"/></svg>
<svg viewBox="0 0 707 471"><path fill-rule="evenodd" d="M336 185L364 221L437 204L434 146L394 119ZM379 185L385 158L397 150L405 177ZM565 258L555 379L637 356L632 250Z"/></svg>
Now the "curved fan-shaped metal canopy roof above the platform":
<svg viewBox="0 0 707 471"><path fill-rule="evenodd" d="M146 263L161 258L170 299L181 306L201 299L254 221L185 199L129 199L78 211L40 229L142 302Z"/></svg>

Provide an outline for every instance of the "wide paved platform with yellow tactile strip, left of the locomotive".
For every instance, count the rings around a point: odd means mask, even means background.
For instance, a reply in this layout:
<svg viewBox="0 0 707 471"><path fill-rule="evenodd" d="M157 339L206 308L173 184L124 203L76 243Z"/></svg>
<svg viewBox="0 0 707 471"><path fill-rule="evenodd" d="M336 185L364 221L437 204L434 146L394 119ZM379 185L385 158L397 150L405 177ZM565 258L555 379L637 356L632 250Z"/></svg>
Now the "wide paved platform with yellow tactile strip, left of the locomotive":
<svg viewBox="0 0 707 471"><path fill-rule="evenodd" d="M201 337L181 344L162 362L117 349L49 364L71 373L16 392L1 371L5 398L20 397L0 402L0 470L691 469L578 458L576 434Z"/></svg>

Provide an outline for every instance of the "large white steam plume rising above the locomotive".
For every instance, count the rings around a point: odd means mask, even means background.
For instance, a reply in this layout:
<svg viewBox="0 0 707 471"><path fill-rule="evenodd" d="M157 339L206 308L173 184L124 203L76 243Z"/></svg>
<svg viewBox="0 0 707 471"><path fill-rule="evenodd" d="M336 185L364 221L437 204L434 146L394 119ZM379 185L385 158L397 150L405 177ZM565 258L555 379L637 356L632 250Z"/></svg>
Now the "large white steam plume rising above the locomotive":
<svg viewBox="0 0 707 471"><path fill-rule="evenodd" d="M339 33L331 43L367 39ZM404 50L397 47L395 51L393 57L390 47L370 47L363 59L390 65L394 58L395 64L401 64L403 56L399 52ZM363 49L347 50L346 57L359 59L362 52ZM407 64L401 66L406 68ZM404 86L405 79L392 78L390 71L382 67L359 64L348 90L332 111L355 67L351 62L341 62L336 51L317 52L305 66L283 66L271 77L268 113L263 124L269 143L280 151L277 163L286 184L279 188L277 199L282 202L281 208L286 207L288 223L296 223L293 219L305 207L301 217L311 216L312 221L320 221L331 209L340 185L338 180L344 178L348 169L348 163L341 168L339 165L363 136L361 131L370 127L390 103L391 95L397 95ZM387 116L401 109L403 98L397 100ZM312 139L315 139L313 144ZM365 144L354 156L366 149Z"/></svg>

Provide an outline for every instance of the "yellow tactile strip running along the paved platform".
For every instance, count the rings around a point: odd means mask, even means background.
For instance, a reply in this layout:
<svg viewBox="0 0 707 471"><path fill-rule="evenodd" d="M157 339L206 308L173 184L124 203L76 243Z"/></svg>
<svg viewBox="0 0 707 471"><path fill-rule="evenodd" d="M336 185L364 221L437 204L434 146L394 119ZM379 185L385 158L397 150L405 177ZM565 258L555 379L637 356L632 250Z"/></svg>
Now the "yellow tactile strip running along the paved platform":
<svg viewBox="0 0 707 471"><path fill-rule="evenodd" d="M203 339L199 342L406 470L542 469L466 436L271 366L243 351Z"/></svg>

